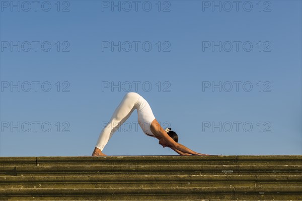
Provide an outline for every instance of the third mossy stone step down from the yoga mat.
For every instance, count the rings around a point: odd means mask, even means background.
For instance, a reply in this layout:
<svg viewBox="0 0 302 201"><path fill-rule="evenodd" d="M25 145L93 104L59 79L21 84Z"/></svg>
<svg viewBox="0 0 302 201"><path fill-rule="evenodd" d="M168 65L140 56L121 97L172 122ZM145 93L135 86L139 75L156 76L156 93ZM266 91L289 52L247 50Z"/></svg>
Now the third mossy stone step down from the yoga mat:
<svg viewBox="0 0 302 201"><path fill-rule="evenodd" d="M0 176L0 181L0 188L298 187L302 175Z"/></svg>

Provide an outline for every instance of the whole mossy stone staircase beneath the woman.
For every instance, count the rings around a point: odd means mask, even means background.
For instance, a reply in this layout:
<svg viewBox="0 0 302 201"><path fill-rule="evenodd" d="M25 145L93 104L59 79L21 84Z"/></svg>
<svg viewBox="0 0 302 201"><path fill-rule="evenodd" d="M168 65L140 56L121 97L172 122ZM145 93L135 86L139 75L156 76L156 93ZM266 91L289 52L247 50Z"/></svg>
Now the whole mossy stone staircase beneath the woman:
<svg viewBox="0 0 302 201"><path fill-rule="evenodd" d="M0 200L302 200L302 155L0 157Z"/></svg>

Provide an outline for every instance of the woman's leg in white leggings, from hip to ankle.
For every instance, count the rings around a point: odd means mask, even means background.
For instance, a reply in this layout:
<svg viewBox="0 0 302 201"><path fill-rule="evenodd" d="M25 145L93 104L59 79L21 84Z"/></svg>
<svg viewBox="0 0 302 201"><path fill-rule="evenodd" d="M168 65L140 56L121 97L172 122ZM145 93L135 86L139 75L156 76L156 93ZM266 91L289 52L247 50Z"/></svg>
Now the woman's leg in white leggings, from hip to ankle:
<svg viewBox="0 0 302 201"><path fill-rule="evenodd" d="M131 113L136 109L135 104L137 103L139 94L135 92L127 93L120 105L114 111L109 123L100 133L96 148L103 151L105 145L108 143L109 139L112 137L113 133L129 118Z"/></svg>

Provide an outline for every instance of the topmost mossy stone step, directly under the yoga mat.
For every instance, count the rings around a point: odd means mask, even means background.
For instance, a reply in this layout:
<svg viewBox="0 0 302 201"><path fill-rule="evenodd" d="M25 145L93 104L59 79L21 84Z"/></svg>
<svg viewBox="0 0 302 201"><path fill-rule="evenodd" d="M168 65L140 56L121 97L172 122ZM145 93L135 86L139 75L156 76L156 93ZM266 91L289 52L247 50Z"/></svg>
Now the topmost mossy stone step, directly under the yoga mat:
<svg viewBox="0 0 302 201"><path fill-rule="evenodd" d="M0 166L36 165L301 165L302 155L0 157Z"/></svg>

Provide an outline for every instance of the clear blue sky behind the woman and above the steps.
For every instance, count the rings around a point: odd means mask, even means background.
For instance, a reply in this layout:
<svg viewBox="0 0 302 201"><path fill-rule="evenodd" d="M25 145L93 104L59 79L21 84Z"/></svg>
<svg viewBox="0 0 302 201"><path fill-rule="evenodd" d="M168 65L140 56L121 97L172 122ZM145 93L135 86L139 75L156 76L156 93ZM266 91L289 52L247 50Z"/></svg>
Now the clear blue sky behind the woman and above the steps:
<svg viewBox="0 0 302 201"><path fill-rule="evenodd" d="M91 155L127 91L200 153L302 154L301 1L31 2L0 1L0 156ZM136 111L103 151L177 154Z"/></svg>

